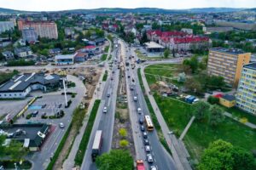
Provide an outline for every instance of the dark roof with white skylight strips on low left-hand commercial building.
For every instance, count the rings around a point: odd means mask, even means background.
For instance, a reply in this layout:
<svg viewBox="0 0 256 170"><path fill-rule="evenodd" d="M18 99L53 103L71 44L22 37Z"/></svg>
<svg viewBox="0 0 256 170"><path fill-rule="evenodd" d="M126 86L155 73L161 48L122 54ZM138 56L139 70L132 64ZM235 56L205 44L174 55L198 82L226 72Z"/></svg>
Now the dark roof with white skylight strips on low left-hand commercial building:
<svg viewBox="0 0 256 170"><path fill-rule="evenodd" d="M56 74L44 75L44 73L25 73L17 75L0 85L0 93L2 92L20 92L24 91L28 86L34 83L47 85L53 82L59 82L60 77Z"/></svg>

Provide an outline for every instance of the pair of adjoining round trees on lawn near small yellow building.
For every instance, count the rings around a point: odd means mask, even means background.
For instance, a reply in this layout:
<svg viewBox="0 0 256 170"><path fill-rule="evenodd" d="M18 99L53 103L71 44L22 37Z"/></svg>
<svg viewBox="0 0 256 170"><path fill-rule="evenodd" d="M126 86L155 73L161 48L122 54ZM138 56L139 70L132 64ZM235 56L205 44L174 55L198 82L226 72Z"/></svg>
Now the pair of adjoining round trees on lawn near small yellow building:
<svg viewBox="0 0 256 170"><path fill-rule="evenodd" d="M215 127L224 121L224 111L218 105L210 105L205 101L199 101L192 107L195 119L199 122L208 122Z"/></svg>

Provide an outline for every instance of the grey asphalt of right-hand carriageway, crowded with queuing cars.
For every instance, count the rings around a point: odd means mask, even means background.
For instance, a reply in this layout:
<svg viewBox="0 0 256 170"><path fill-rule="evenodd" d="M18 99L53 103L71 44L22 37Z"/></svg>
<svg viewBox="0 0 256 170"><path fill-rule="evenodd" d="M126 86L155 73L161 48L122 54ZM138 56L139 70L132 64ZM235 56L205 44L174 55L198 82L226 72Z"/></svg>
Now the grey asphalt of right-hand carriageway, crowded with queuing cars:
<svg viewBox="0 0 256 170"><path fill-rule="evenodd" d="M129 56L131 56L130 48L125 44L125 42L121 42L121 50L123 55L125 56L125 60L129 62ZM135 69L131 69L131 66L125 66L126 71L126 83L127 83L127 99L130 110L131 117L131 125L134 136L134 143L136 145L136 153L137 159L143 159L145 166L147 169L151 166L158 167L158 169L176 169L174 162L172 161L172 157L166 152L163 148L162 144L160 144L160 139L156 133L156 130L148 133L148 142L150 146L150 154L153 156L154 162L147 163L146 155L148 153L145 152L144 138L143 132L140 129L139 118L145 115L150 115L148 111L148 106L143 97L142 89L138 82L137 77L137 67ZM133 90L131 90L133 88ZM137 97L137 101L134 101L134 96ZM137 113L137 108L142 109L142 114Z"/></svg>

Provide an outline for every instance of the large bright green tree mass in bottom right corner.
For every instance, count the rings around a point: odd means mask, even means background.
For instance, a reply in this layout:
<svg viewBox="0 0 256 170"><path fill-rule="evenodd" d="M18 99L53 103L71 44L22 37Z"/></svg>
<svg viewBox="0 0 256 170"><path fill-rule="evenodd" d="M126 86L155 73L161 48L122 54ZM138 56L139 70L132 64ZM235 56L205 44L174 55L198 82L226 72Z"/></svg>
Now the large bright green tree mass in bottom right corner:
<svg viewBox="0 0 256 170"><path fill-rule="evenodd" d="M253 155L246 150L218 139L204 150L199 170L253 170Z"/></svg>

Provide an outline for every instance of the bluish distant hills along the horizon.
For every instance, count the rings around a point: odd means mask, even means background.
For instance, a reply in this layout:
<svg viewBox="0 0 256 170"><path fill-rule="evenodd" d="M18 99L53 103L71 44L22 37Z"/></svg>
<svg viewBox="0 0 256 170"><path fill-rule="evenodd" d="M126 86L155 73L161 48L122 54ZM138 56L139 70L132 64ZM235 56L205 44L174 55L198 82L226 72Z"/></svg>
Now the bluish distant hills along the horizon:
<svg viewBox="0 0 256 170"><path fill-rule="evenodd" d="M73 9L55 11L62 13L143 13L143 14L177 14L177 13L224 13L245 10L246 8L190 8L190 9L164 9L164 8L95 8L95 9ZM248 10L254 10L255 8ZM0 8L0 14L29 14L32 11L21 11L9 8Z"/></svg>

